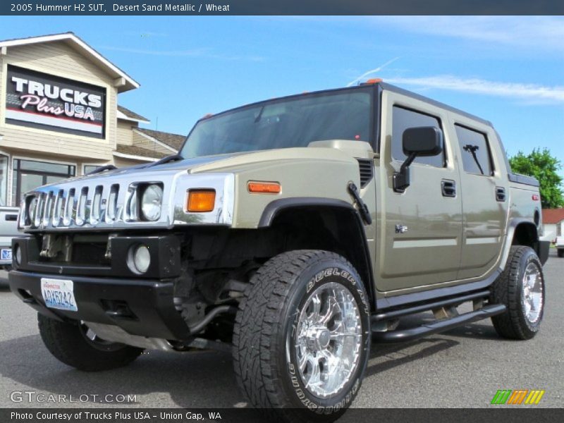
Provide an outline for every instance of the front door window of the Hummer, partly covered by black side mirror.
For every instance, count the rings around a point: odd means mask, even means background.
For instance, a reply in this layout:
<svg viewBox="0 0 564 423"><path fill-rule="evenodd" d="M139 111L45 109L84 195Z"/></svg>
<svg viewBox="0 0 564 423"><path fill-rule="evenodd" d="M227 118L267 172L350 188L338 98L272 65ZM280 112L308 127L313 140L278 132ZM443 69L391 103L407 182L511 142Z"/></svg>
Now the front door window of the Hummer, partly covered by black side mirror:
<svg viewBox="0 0 564 423"><path fill-rule="evenodd" d="M404 130L407 128L417 128L418 126L434 126L442 130L439 118L419 113L418 111L404 109L400 106L393 106L392 121L392 158L399 161L407 159L405 154L403 154L402 148ZM414 163L444 167L446 164L444 149L441 154L437 154L436 156L417 157Z"/></svg>

